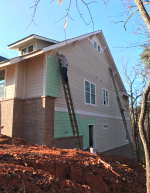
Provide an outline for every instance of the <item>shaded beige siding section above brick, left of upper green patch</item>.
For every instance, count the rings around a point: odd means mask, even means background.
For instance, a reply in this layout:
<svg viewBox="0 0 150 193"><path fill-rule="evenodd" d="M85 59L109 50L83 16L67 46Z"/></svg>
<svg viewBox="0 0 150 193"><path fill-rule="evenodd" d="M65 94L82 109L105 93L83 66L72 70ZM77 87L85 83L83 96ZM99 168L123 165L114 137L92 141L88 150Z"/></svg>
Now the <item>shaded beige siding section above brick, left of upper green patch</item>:
<svg viewBox="0 0 150 193"><path fill-rule="evenodd" d="M25 98L43 95L43 55L26 61Z"/></svg>

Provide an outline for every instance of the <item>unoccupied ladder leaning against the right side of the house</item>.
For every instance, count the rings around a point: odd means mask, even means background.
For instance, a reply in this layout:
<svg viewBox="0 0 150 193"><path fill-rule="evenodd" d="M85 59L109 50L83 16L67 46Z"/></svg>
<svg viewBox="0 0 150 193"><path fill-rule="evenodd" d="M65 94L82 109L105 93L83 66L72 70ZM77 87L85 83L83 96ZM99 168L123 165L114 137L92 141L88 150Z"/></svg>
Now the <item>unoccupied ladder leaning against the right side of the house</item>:
<svg viewBox="0 0 150 193"><path fill-rule="evenodd" d="M115 79L114 79L114 75L113 75L113 72L112 72L111 68L109 68L109 71L110 71L112 82L113 82L113 85L114 85L114 88L115 88L115 92L116 92L116 96L117 96L117 102L118 102L118 106L119 106L120 113L121 113L121 116L122 116L122 120L123 120L123 123L124 123L127 138L128 138L129 144L131 145L131 150L132 150L132 153L133 153L133 147L132 147L130 135L129 135L128 128L127 128L127 122L126 122L125 115L124 115L124 112L123 112L123 108L122 108L122 105L121 105L121 101L120 101L120 97L119 97L119 94L118 94L116 82L115 82Z"/></svg>

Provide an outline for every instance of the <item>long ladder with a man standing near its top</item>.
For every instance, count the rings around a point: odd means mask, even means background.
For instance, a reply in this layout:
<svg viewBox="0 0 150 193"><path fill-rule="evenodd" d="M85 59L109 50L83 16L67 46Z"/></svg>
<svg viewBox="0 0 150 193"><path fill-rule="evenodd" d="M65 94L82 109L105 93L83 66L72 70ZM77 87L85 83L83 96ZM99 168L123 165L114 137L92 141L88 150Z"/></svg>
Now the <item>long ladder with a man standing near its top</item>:
<svg viewBox="0 0 150 193"><path fill-rule="evenodd" d="M60 64L60 62L59 62L59 64ZM65 83L65 81L64 81L62 71L61 71L61 64L60 64L60 75L61 75L61 80L62 80L62 84L63 84L63 88L64 88L70 123L71 123L71 127L72 127L72 133L74 136L75 147L76 147L76 149L81 149L80 138L79 138L79 129L78 129L77 119L76 119L73 101L72 101L72 97L71 97L70 87L69 87L69 83ZM76 136L76 134L77 134L77 136Z"/></svg>

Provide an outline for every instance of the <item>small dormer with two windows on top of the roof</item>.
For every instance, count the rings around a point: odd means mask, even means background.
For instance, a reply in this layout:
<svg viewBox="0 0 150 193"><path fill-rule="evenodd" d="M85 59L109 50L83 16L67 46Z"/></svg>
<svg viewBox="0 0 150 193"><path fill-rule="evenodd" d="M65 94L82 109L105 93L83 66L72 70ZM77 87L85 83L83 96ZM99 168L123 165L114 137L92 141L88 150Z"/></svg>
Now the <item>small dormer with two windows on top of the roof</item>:
<svg viewBox="0 0 150 193"><path fill-rule="evenodd" d="M23 38L13 44L7 46L8 49L18 50L18 56L28 54L30 52L36 51L38 49L57 44L58 41L45 38L32 34L26 38Z"/></svg>

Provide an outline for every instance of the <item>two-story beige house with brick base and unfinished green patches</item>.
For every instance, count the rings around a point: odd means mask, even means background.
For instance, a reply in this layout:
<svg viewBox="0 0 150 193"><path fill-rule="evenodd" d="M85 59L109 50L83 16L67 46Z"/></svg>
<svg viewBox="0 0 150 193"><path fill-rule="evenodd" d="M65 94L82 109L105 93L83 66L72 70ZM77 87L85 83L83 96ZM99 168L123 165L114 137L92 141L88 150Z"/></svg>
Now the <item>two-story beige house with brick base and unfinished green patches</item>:
<svg viewBox="0 0 150 193"><path fill-rule="evenodd" d="M115 74L131 134L129 102L101 30L58 42L37 35L8 46L18 57L0 63L2 134L36 144L73 148L74 141L56 52L65 54L83 148L129 150L109 67ZM125 155L125 154L124 154Z"/></svg>

